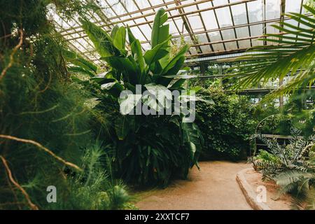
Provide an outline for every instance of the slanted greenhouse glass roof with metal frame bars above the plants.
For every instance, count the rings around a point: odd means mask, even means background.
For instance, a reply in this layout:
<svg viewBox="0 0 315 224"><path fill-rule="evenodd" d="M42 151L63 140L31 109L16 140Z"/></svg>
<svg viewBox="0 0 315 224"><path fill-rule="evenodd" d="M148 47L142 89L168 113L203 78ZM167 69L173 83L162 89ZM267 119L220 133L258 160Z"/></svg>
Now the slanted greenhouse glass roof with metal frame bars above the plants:
<svg viewBox="0 0 315 224"><path fill-rule="evenodd" d="M151 48L155 12L165 8L172 44L181 43L182 38L190 44L188 59L244 52L251 46L268 44L257 38L265 33L279 33L270 27L272 24L281 20L291 22L283 13L304 13L303 0L98 0L95 3L102 10L89 13L91 22L106 31L115 25L129 25L144 50ZM53 20L73 50L100 62L77 18L66 21L55 14Z"/></svg>

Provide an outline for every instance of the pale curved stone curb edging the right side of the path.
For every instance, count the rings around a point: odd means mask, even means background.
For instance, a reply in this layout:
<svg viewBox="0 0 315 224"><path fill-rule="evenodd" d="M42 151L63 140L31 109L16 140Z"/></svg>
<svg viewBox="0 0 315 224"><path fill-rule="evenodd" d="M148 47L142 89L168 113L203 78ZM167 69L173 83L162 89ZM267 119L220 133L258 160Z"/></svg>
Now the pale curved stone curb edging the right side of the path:
<svg viewBox="0 0 315 224"><path fill-rule="evenodd" d="M256 200L256 193L255 190L249 185L246 181L245 173L248 170L253 170L253 168L242 169L240 172L237 173L236 180L239 184L239 188L241 188L241 192L246 198L247 203L254 209L254 210L271 210L267 204L264 202L257 202Z"/></svg>

